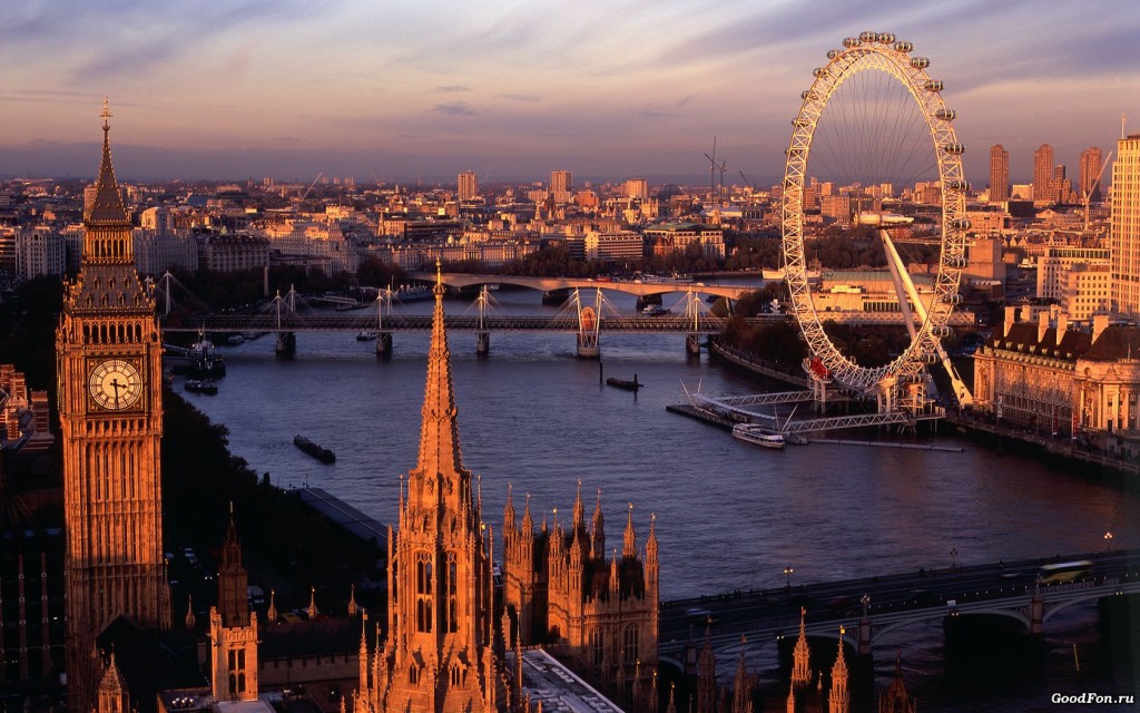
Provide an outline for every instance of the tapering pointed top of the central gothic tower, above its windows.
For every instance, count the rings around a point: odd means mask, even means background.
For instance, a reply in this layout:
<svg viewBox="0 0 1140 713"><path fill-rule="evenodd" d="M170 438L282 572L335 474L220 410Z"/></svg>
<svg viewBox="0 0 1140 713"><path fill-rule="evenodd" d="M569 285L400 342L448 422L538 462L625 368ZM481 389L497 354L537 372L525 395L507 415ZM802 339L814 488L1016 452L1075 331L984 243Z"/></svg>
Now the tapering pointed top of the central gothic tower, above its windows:
<svg viewBox="0 0 1140 713"><path fill-rule="evenodd" d="M427 351L427 384L421 412L423 423L420 432L420 461L416 465L421 475L430 478L463 472L450 351L447 348L447 330L443 326L443 277L438 264L434 292L435 313L432 317L431 347Z"/></svg>

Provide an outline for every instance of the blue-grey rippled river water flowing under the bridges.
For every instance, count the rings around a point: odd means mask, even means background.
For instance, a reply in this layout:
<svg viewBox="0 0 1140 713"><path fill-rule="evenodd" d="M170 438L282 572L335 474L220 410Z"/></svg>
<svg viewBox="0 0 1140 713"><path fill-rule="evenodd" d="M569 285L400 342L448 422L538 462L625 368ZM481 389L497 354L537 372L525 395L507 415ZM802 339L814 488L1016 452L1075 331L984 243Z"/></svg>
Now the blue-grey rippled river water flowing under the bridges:
<svg viewBox="0 0 1140 713"><path fill-rule="evenodd" d="M632 297L609 298L634 311ZM556 311L534 292L500 291L497 300L507 315ZM446 309L473 307L448 301ZM520 513L529 493L536 522L568 518L580 480L587 515L601 489L611 545L629 503L641 545L656 513L663 599L779 586L785 567L793 583L820 582L946 567L952 557L969 565L1092 552L1105 546L1106 532L1113 546L1140 545L1137 488L1065 463L999 455L948 428L937 441L961 452L828 444L773 452L668 413L683 388L760 390L707 354L686 357L679 334L603 334L601 365L576 358L572 334L492 334L489 357L477 356L473 334L449 337L463 460L481 476L488 524L502 527L508 484ZM185 396L225 423L231 452L276 485L321 487L391 522L399 476L416 460L427 334L396 334L388 359L374 349L355 334L302 333L286 360L275 357L271 337L246 341L222 350L228 375L217 396ZM636 374L645 387L636 395L605 387L603 372ZM336 463L301 454L296 434L333 449ZM1052 691L1090 682L1131 692L1131 665L1105 651L1097 624L1093 606L1059 614L1040 670L976 695L947 673L940 627L904 629L877 642L876 689L889 683L901 647L904 679L923 711L974 711L980 702L995 711L1058 710ZM760 667L772 658L756 656ZM734 663L722 661L722 670Z"/></svg>

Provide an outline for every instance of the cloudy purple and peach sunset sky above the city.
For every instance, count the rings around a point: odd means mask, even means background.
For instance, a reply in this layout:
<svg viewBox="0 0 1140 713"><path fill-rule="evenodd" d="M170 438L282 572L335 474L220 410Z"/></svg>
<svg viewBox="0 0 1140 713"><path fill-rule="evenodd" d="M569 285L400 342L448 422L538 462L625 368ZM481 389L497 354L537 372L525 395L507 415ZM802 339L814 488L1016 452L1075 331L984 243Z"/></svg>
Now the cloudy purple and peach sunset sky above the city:
<svg viewBox="0 0 1140 713"><path fill-rule="evenodd" d="M1033 151L1140 132L1134 0L11 0L0 177L769 185L829 49L890 32L930 58L987 183ZM703 179L701 178L703 177Z"/></svg>

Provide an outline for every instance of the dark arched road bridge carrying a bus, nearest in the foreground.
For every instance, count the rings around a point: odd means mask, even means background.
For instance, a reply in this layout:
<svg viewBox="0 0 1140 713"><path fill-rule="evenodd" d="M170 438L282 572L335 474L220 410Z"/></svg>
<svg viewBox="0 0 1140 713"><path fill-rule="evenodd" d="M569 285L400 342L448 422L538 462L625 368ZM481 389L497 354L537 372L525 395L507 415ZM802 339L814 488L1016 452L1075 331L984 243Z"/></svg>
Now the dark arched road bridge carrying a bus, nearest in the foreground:
<svg viewBox="0 0 1140 713"><path fill-rule="evenodd" d="M1089 561L1092 567L1084 578L1042 583L1041 567L1057 561ZM808 635L842 635L860 654L870 654L877 639L894 631L946 617L1002 616L1037 634L1066 607L1140 593L1140 550L969 567L955 561L945 569L809 585L792 585L791 570L787 574L783 588L661 602L661 659L683 671L689 651L699 646L698 634L706 631L715 650L736 650L742 638L756 646L797 635L800 607Z"/></svg>

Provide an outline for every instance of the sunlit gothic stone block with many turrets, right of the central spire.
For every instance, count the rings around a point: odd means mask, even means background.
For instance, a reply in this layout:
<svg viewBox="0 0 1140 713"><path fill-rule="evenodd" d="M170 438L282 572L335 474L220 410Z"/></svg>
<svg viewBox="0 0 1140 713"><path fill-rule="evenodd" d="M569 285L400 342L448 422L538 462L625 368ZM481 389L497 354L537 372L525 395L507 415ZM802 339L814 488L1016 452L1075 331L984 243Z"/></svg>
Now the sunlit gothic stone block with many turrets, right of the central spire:
<svg viewBox="0 0 1140 713"><path fill-rule="evenodd" d="M659 564L654 524L644 557L633 507L620 556L608 558L601 494L587 527L581 484L569 528L535 533L527 500L521 526L507 495L503 599L523 645L542 643L609 690L627 710L657 710Z"/></svg>

